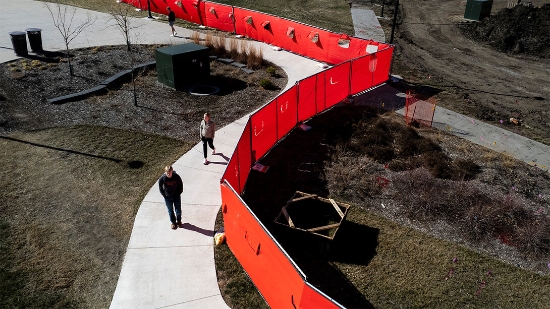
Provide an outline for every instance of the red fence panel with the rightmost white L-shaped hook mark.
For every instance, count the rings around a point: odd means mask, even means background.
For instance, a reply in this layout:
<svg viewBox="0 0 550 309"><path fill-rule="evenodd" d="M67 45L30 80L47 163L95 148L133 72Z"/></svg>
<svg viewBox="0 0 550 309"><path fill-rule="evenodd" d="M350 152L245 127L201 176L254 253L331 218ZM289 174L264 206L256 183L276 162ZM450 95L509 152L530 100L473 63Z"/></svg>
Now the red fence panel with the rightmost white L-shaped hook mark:
<svg viewBox="0 0 550 309"><path fill-rule="evenodd" d="M326 108L349 96L350 64L350 61L344 62L324 71Z"/></svg>

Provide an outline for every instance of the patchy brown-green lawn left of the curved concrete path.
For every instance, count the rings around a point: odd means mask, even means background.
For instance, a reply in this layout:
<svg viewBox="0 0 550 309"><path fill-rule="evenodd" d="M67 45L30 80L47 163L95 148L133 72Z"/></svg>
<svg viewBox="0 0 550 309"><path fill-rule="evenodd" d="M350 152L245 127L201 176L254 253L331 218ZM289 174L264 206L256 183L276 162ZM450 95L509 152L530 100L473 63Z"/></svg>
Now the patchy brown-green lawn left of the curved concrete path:
<svg viewBox="0 0 550 309"><path fill-rule="evenodd" d="M0 308L108 307L141 201L191 147L94 125L0 136Z"/></svg>

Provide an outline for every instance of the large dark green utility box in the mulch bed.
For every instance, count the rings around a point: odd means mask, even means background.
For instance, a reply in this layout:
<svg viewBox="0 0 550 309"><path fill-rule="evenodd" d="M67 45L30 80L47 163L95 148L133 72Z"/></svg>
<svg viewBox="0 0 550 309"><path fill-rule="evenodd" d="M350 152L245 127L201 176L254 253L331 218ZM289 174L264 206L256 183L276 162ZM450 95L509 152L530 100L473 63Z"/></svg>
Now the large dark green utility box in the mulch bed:
<svg viewBox="0 0 550 309"><path fill-rule="evenodd" d="M210 77L208 47L187 43L155 50L157 80L174 89L197 84Z"/></svg>

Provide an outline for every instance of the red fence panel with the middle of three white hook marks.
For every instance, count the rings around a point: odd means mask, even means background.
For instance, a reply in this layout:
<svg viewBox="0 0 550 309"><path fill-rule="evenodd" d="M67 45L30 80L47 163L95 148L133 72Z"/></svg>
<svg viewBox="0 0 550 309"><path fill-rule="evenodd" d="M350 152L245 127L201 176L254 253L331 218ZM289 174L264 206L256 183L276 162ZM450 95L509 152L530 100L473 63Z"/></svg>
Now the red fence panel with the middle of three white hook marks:
<svg viewBox="0 0 550 309"><path fill-rule="evenodd" d="M296 120L298 120L297 90L298 86L294 85L277 97L277 140L280 140L296 125Z"/></svg>

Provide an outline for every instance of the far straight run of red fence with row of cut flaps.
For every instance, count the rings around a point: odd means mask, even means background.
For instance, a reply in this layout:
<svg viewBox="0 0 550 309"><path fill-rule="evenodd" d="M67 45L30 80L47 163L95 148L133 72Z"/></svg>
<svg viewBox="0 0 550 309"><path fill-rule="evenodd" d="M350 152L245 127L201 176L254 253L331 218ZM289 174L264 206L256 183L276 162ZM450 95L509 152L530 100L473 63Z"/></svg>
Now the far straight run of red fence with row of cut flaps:
<svg viewBox="0 0 550 309"><path fill-rule="evenodd" d="M147 10L147 0L123 0ZM279 16L202 0L150 0L151 12L191 23L235 32L254 40L278 46L321 62L339 64L349 59L382 51L390 45L324 30ZM340 45L340 39L349 43ZM371 70L371 73L374 71ZM386 76L387 79L387 76ZM386 80L384 79L384 80Z"/></svg>

